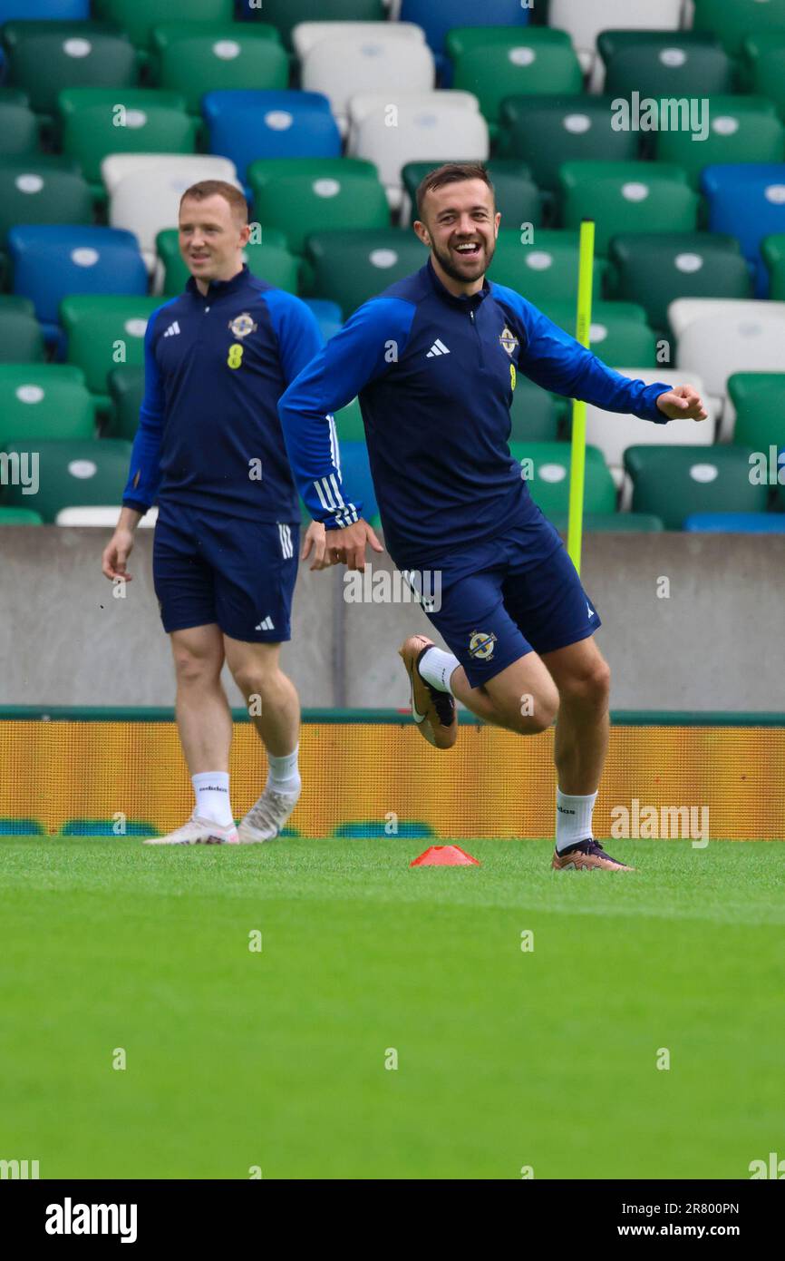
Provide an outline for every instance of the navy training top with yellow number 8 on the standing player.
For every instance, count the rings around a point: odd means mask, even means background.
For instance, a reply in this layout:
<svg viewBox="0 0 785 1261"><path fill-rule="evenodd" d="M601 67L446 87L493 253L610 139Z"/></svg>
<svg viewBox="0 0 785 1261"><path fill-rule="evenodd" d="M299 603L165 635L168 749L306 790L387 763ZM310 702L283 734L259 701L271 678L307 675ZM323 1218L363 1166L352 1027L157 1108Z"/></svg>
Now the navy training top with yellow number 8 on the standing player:
<svg viewBox="0 0 785 1261"><path fill-rule="evenodd" d="M147 323L123 504L146 512L159 499L297 522L277 401L323 346L310 308L247 266L212 281L205 296L192 276Z"/></svg>

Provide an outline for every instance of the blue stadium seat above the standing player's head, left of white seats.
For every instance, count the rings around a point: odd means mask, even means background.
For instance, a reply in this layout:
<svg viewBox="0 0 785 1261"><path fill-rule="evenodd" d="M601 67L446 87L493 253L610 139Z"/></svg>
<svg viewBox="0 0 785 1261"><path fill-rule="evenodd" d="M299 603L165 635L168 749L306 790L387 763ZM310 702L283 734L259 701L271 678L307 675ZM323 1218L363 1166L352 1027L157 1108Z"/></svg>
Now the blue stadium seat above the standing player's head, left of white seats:
<svg viewBox="0 0 785 1261"><path fill-rule="evenodd" d="M210 153L231 158L243 182L257 158L340 158L340 132L320 92L207 92L202 107Z"/></svg>

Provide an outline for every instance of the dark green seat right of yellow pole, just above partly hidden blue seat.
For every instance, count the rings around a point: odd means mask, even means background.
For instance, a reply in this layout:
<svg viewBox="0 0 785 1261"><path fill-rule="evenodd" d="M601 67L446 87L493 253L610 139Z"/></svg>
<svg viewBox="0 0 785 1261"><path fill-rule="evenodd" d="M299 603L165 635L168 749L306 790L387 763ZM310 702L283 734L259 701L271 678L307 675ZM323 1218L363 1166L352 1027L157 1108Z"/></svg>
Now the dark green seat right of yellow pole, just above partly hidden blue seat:
<svg viewBox="0 0 785 1261"><path fill-rule="evenodd" d="M680 530L694 512L765 512L769 488L750 482L741 446L627 446L633 511L653 512Z"/></svg>

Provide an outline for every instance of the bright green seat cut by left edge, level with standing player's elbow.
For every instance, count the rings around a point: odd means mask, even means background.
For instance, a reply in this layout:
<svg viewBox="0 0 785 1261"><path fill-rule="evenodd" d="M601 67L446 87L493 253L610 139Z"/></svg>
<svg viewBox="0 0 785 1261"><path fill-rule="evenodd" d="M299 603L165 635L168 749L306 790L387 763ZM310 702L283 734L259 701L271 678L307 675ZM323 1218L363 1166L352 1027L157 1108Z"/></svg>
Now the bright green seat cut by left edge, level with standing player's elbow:
<svg viewBox="0 0 785 1261"><path fill-rule="evenodd" d="M0 446L93 438L95 405L81 376L52 363L0 364Z"/></svg>

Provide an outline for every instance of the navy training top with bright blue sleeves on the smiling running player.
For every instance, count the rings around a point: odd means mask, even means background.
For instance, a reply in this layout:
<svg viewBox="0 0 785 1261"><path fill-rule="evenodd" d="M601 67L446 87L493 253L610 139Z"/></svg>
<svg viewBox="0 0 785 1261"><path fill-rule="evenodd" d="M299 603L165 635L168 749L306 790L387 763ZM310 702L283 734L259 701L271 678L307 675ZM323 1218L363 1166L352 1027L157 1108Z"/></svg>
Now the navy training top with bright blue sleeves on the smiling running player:
<svg viewBox="0 0 785 1261"><path fill-rule="evenodd" d="M427 565L538 514L508 448L515 373L609 411L665 422L645 386L607 368L513 289L445 289L431 261L350 317L278 402L311 516L357 521L326 415L359 396L384 541L398 567ZM548 540L552 547L552 540Z"/></svg>

